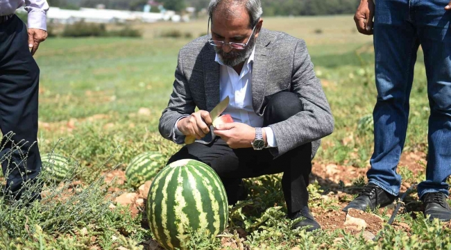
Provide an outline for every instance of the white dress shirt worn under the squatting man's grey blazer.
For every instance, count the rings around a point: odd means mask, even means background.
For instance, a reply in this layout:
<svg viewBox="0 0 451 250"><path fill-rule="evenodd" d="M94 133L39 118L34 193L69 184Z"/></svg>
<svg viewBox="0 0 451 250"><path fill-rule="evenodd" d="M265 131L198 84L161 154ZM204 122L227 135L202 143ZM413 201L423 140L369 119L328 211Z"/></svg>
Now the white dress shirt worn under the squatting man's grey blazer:
<svg viewBox="0 0 451 250"><path fill-rule="evenodd" d="M251 85L254 55L255 47L247 62L243 65L241 74L237 74L232 67L224 65L217 54L214 61L219 63L220 99L226 99L227 96L230 98L229 105L222 114L229 114L234 122L241 122L257 128L263 126L263 117L257 115L252 106ZM180 119L182 118L184 117L181 117ZM178 121L176 122L175 127L176 135L183 135L182 132L178 130L177 124ZM263 129L266 133L268 147L277 147L273 130L270 127L264 127Z"/></svg>

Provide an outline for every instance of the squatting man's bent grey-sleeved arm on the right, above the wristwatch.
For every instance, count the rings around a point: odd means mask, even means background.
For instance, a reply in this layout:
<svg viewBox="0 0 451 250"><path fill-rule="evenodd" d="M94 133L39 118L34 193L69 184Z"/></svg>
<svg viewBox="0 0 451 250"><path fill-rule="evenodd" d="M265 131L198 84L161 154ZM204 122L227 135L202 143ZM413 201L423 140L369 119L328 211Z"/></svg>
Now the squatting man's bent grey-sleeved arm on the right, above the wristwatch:
<svg viewBox="0 0 451 250"><path fill-rule="evenodd" d="M294 51L291 92L298 95L303 103L303 111L269 125L277 140L277 147L269 149L275 157L307 142L324 138L334 131L334 117L321 81L315 75L304 40L298 41Z"/></svg>

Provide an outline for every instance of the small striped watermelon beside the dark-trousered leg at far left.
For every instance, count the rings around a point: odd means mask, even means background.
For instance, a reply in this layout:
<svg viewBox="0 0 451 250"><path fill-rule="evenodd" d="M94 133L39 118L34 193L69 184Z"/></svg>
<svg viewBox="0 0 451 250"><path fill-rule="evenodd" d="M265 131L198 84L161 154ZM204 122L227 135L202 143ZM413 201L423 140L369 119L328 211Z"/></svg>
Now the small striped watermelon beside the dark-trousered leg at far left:
<svg viewBox="0 0 451 250"><path fill-rule="evenodd" d="M54 181L62 181L69 174L69 160L58 153L46 153L41 156L42 169L48 172Z"/></svg>

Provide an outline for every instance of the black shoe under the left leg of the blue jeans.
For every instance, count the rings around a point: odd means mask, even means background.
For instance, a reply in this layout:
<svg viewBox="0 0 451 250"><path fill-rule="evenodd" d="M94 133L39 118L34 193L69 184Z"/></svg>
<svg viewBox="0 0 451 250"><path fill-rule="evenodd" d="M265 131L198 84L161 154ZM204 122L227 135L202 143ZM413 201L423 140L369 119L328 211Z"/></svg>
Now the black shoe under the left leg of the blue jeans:
<svg viewBox="0 0 451 250"><path fill-rule="evenodd" d="M377 206L383 208L387 206L396 199L395 195L389 194L378 185L373 183L368 183L364 188L360 191L359 196L351 201L348 206L343 208L343 211L348 212L350 208L354 208L357 210L366 211L366 208L370 208L370 210L375 210Z"/></svg>

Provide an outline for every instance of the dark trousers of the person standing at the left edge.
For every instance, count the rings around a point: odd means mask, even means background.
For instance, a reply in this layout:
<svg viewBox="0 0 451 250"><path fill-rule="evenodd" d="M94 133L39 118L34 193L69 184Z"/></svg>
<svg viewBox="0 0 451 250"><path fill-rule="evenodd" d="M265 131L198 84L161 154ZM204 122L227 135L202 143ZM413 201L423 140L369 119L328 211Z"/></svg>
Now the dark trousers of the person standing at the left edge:
<svg viewBox="0 0 451 250"><path fill-rule="evenodd" d="M25 181L41 170L37 148L37 95L40 70L28 50L28 33L17 16L0 24L0 159L6 188L18 199ZM13 133L8 138L8 133Z"/></svg>

